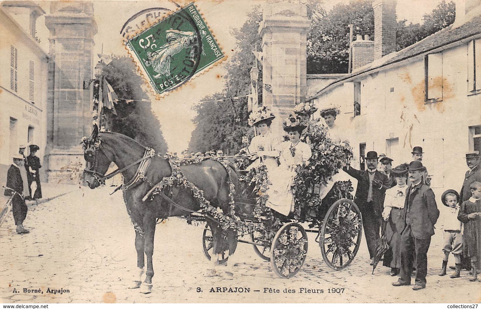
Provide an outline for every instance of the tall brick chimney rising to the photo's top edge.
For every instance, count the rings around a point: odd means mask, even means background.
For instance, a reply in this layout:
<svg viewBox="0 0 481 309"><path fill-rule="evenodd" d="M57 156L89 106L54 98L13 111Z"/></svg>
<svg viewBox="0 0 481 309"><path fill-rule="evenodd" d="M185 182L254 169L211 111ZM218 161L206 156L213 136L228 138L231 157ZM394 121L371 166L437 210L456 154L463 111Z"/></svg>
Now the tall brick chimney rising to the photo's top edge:
<svg viewBox="0 0 481 309"><path fill-rule="evenodd" d="M396 51L396 0L373 0L374 59Z"/></svg>

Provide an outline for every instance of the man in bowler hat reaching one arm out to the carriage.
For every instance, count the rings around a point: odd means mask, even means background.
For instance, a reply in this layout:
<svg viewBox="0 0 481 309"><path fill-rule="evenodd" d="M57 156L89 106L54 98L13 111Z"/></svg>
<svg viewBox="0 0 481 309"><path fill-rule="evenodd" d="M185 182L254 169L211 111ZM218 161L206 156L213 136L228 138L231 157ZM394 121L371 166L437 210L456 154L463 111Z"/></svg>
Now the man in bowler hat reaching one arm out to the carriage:
<svg viewBox="0 0 481 309"><path fill-rule="evenodd" d="M369 257L372 259L376 253L376 241L379 238L381 213L384 209L384 195L389 188L388 178L377 170L378 153L367 152L366 171L359 171L351 166L344 171L357 179L357 190L354 202L359 206L362 214L362 224L366 235Z"/></svg>

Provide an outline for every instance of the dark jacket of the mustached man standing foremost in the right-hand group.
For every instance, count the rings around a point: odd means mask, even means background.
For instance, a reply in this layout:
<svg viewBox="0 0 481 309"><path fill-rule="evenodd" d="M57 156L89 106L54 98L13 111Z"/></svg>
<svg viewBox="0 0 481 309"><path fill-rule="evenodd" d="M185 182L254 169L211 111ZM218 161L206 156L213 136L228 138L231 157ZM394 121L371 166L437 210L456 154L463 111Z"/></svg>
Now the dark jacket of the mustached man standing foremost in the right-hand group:
<svg viewBox="0 0 481 309"><path fill-rule="evenodd" d="M412 193L411 187L412 184L406 189L406 200L401 212L405 222L401 234L408 225L411 225L414 237L426 239L434 235L434 224L439 218L438 205L434 192L428 185L424 185L421 181L414 186Z"/></svg>

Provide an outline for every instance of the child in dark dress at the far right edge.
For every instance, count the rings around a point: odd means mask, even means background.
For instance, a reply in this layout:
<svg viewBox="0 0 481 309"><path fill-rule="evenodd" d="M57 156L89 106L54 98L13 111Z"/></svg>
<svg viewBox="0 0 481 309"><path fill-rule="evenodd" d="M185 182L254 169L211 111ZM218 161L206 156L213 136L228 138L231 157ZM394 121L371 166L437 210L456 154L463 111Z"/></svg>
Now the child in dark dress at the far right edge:
<svg viewBox="0 0 481 309"><path fill-rule="evenodd" d="M476 281L477 264L481 256L481 183L475 181L469 188L471 198L463 202L457 219L464 222L464 254L471 259L473 271L473 277L469 278L469 281Z"/></svg>

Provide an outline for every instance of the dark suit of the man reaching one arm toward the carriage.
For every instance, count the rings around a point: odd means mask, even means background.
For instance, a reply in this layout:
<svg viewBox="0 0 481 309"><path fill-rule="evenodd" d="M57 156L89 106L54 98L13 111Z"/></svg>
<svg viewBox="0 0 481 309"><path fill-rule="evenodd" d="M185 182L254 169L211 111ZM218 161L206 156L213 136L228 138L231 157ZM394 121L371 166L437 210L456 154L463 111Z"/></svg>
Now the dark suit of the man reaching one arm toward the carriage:
<svg viewBox="0 0 481 309"><path fill-rule="evenodd" d="M359 207L362 214L362 224L364 226L364 234L366 235L367 249L372 259L376 253L376 241L379 239L379 228L382 220L381 213L384 209L384 196L386 189L389 188L388 178L384 173L375 171L374 180L382 182L379 185L372 186L372 200L367 201L369 193L369 172L355 170L352 167L344 169L346 173L357 179L356 196L354 203Z"/></svg>

